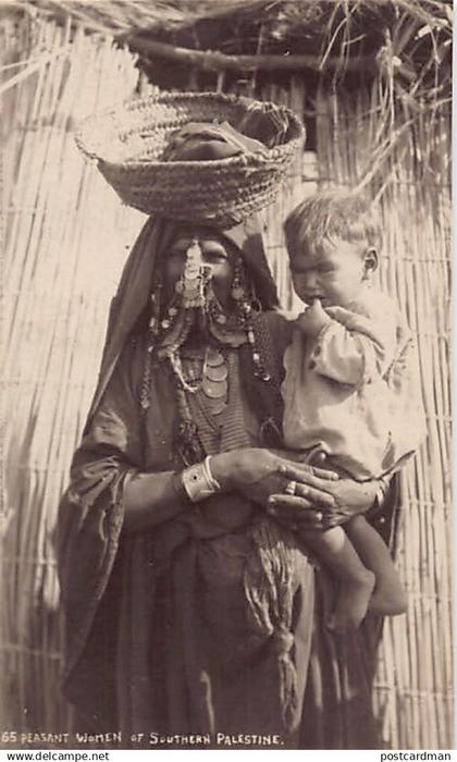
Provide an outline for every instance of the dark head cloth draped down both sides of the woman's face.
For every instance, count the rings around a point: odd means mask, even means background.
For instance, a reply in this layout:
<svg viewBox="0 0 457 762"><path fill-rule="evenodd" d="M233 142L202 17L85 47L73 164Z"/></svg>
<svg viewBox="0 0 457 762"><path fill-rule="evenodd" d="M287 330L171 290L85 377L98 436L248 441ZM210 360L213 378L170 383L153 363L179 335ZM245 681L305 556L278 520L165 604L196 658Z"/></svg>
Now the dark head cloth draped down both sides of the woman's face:
<svg viewBox="0 0 457 762"><path fill-rule="evenodd" d="M88 422L98 407L127 336L148 304L156 268L161 267L175 231L176 223L151 217L132 249L118 293L111 303L101 368ZM215 232L219 237L226 238L238 248L261 308L270 310L277 307L276 286L268 266L258 220L251 218L231 230L208 228L208 231L213 234Z"/></svg>

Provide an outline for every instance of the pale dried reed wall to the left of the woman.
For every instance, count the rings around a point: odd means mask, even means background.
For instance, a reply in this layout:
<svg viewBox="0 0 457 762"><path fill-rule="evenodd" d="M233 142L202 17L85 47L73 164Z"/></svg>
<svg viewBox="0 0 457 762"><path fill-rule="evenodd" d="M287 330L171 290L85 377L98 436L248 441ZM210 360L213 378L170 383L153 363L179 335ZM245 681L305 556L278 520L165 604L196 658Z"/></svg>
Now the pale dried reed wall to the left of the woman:
<svg viewBox="0 0 457 762"><path fill-rule="evenodd" d="M13 415L3 438L0 712L3 727L57 732L69 728L71 715L58 688L55 511L92 393L109 299L141 222L81 160L72 126L131 97L137 72L110 39L79 29L69 45L70 24L38 24L15 50L9 39L5 54L21 52L33 65L13 83L10 70L2 79L9 122L2 380Z"/></svg>

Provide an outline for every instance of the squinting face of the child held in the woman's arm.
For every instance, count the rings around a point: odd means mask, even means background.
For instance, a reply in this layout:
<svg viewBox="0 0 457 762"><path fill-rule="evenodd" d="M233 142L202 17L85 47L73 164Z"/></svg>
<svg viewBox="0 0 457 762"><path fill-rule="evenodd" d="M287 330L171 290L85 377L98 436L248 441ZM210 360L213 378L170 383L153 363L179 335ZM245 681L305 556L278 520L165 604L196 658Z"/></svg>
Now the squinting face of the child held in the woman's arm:
<svg viewBox="0 0 457 762"><path fill-rule="evenodd" d="M289 257L295 292L307 304L319 298L323 307L347 307L368 275L360 243L324 241L317 249L304 246Z"/></svg>

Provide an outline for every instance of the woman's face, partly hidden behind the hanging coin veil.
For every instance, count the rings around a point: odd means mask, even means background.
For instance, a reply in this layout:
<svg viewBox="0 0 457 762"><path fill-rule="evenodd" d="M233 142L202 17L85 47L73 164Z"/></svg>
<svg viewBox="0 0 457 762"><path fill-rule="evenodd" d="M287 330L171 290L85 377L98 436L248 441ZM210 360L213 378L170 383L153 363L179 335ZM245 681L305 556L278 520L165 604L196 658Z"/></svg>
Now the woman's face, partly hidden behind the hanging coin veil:
<svg viewBox="0 0 457 762"><path fill-rule="evenodd" d="M174 295L176 281L184 273L187 250L198 244L201 265L209 268L212 288L221 305L228 308L232 304L231 286L234 274L235 253L209 231L180 230L166 253L163 269L163 287L165 299Z"/></svg>

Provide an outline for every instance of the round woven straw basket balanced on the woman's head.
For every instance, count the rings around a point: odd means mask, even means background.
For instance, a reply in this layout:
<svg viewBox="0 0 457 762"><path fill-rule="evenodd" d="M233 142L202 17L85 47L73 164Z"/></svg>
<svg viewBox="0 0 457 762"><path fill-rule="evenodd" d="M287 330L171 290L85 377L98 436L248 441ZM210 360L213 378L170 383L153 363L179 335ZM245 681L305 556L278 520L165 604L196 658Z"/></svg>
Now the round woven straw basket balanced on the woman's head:
<svg viewBox="0 0 457 762"><path fill-rule="evenodd" d="M305 130L293 111L284 144L214 161L160 161L170 136L188 122L226 121L237 128L245 100L213 93L161 94L86 120L76 143L96 159L124 204L162 214L230 228L271 204L285 180Z"/></svg>

